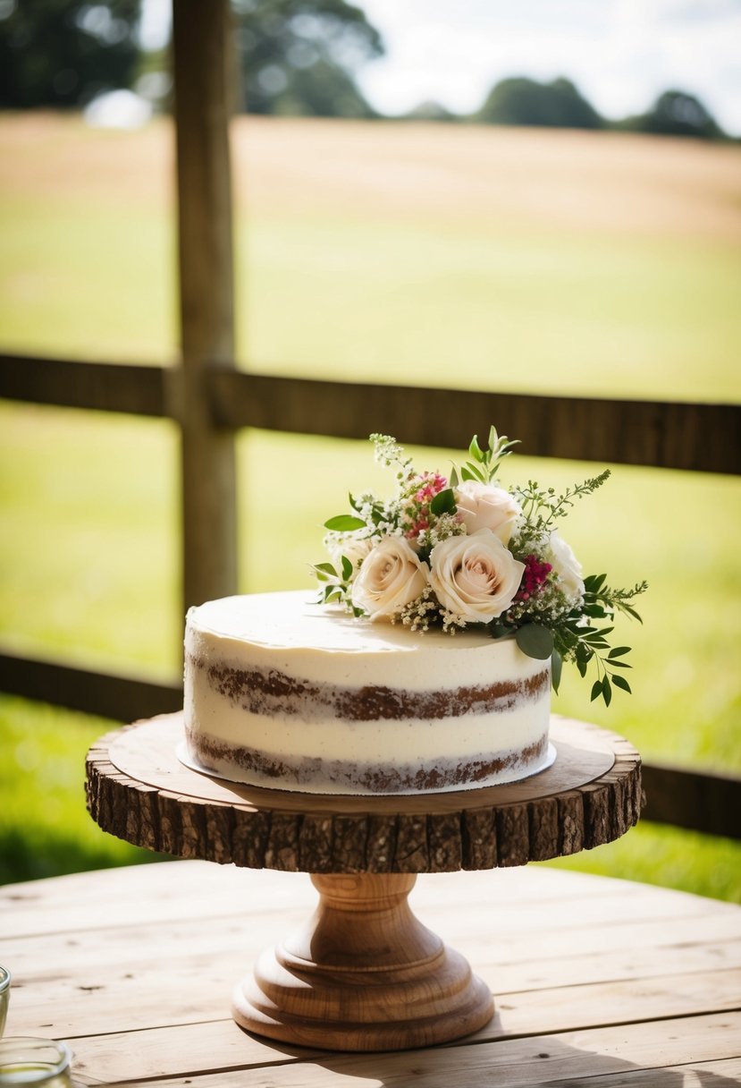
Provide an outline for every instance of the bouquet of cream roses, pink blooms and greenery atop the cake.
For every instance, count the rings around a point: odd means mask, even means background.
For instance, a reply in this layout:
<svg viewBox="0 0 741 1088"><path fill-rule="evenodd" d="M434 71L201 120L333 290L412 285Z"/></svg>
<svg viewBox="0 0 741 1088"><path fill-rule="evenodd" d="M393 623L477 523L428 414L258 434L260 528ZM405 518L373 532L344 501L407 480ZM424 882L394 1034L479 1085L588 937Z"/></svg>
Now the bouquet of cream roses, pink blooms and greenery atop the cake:
<svg viewBox="0 0 741 1088"><path fill-rule="evenodd" d="M350 512L325 522L330 561L313 568L323 602L420 633L475 627L514 638L529 657L551 659L555 691L563 662L582 677L596 668L592 700L630 691L630 647L611 646L610 623L616 611L640 620L631 602L646 583L613 589L605 574L583 577L558 528L610 470L558 495L533 481L504 486L500 467L518 443L493 426L449 477L416 470L389 435L370 441L376 460L395 470L395 493L350 495Z"/></svg>

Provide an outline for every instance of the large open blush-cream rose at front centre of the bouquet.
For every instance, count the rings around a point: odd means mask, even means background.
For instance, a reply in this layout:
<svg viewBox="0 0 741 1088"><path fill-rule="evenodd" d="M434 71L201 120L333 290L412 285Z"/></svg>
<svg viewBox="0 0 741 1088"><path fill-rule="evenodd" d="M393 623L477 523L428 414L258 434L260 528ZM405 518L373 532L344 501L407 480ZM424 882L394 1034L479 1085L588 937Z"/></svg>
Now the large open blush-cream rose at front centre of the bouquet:
<svg viewBox="0 0 741 1088"><path fill-rule="evenodd" d="M488 529L437 544L430 566L430 585L440 604L469 623L488 623L506 611L525 570Z"/></svg>

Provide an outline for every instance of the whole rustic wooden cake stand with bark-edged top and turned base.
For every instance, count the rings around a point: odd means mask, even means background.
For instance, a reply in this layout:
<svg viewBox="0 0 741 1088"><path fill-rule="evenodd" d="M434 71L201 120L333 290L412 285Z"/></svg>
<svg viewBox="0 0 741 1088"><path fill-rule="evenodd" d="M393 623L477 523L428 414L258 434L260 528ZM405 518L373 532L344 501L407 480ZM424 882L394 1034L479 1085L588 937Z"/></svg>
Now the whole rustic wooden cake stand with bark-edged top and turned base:
<svg viewBox="0 0 741 1088"><path fill-rule="evenodd" d="M624 834L640 757L614 733L553 718L551 767L511 786L420 796L318 796L240 786L177 757L183 715L138 722L88 753L88 808L150 850L312 874L312 918L259 959L233 1015L251 1031L331 1050L456 1039L493 1015L468 963L410 910L417 873L574 854Z"/></svg>

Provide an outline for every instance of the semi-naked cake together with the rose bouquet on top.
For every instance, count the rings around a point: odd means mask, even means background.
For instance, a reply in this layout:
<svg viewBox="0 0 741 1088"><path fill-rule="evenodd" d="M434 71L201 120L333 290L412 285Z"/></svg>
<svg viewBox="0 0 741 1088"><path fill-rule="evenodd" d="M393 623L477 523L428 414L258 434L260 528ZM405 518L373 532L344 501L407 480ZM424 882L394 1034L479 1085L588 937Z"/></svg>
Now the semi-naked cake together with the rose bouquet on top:
<svg viewBox="0 0 741 1088"><path fill-rule="evenodd" d="M226 597L191 608L185 639L185 758L237 782L319 794L497 786L553 761L550 693L564 660L592 698L630 691L615 611L644 583L582 578L557 521L608 472L557 495L498 479L515 443L491 428L449 477L395 469L392 498L351 495L325 522L319 593Z"/></svg>

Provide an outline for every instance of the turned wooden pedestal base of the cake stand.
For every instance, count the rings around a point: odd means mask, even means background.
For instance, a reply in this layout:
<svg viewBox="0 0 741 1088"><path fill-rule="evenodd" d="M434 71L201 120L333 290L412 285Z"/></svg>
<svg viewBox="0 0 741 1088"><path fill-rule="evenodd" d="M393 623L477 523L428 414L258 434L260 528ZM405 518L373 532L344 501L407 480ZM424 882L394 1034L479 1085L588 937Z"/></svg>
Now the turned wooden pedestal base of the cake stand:
<svg viewBox="0 0 741 1088"><path fill-rule="evenodd" d="M241 1027L305 1047L405 1050L491 1019L489 989L410 910L415 876L312 880L321 897L313 917L237 986Z"/></svg>

